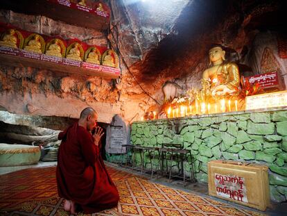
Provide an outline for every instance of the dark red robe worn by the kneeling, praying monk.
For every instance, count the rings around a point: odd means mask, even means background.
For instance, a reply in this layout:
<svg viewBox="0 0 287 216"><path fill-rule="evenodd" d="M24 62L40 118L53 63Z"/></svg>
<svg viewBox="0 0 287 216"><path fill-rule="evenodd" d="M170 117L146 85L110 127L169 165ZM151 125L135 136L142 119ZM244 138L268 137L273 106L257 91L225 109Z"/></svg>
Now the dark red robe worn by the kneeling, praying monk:
<svg viewBox="0 0 287 216"><path fill-rule="evenodd" d="M80 204L84 213L114 208L119 193L105 169L92 135L78 123L59 133L58 194Z"/></svg>

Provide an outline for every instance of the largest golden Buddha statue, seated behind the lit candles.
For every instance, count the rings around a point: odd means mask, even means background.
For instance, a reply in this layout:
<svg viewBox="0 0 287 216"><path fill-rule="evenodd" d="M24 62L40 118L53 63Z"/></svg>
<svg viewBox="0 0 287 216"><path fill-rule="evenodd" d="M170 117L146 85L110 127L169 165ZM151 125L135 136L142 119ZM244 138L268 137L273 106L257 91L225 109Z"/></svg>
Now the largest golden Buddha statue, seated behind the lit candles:
<svg viewBox="0 0 287 216"><path fill-rule="evenodd" d="M203 72L205 85L209 85L213 97L234 95L240 87L238 66L235 63L225 63L225 51L220 46L209 50L211 67Z"/></svg>

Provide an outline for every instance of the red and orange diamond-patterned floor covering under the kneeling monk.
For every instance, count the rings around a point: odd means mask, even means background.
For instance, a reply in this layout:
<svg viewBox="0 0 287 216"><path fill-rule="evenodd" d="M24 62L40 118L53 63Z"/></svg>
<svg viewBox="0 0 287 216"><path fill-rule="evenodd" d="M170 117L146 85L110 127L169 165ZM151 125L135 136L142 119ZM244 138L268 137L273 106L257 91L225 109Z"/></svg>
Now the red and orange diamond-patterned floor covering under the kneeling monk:
<svg viewBox="0 0 287 216"><path fill-rule="evenodd" d="M119 190L119 205L93 215L262 215L150 183L112 167L108 167L108 172ZM68 215L63 209L63 199L57 194L55 167L17 173L0 176L0 215Z"/></svg>

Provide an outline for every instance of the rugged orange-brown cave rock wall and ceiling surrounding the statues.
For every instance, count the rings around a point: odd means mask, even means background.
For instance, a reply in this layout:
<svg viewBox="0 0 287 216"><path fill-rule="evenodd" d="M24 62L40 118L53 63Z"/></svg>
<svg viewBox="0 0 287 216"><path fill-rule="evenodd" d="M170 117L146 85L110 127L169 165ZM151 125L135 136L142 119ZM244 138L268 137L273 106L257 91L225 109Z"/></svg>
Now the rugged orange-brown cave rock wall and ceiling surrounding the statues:
<svg viewBox="0 0 287 216"><path fill-rule="evenodd" d="M245 66L247 71L241 73L248 74L253 68L254 38L281 33L286 4L268 0L180 0L164 6L154 1L107 3L111 22L103 32L0 10L0 22L17 28L115 49L122 73L118 80L105 80L0 64L0 108L23 115L78 118L82 108L92 106L100 113L100 122L110 122L116 114L126 122L139 120L149 110L159 111L166 81L177 83L180 94L200 88L202 72L209 67L210 44L223 44L228 60ZM281 78L287 83L286 59L279 60Z"/></svg>

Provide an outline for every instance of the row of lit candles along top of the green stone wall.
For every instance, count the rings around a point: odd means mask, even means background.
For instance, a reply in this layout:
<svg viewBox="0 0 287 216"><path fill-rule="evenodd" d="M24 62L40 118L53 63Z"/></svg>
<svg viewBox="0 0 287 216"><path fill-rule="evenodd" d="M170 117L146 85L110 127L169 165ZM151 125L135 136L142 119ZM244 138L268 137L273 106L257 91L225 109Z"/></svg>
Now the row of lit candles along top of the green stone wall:
<svg viewBox="0 0 287 216"><path fill-rule="evenodd" d="M233 103L233 104L232 104ZM200 114L211 114L211 113L225 113L227 112L227 106L228 106L228 112L232 112L232 105L234 105L235 111L238 111L238 102L235 101L226 101L225 99L220 100L220 106L218 109L218 105L211 104L211 103L198 103L198 101L195 101L195 108L193 106L180 106L180 108L172 109L171 107L168 108L167 114L168 118L171 117L184 117L187 115L200 115Z"/></svg>

